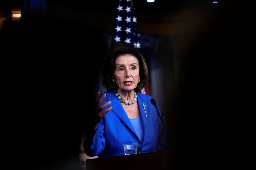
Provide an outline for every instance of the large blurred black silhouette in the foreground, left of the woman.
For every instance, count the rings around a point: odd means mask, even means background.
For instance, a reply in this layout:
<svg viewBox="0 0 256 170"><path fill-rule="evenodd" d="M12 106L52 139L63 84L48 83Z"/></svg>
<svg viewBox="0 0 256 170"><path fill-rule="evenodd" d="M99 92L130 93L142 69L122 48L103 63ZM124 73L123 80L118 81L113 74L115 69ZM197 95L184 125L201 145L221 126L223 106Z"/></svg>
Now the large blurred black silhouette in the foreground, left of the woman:
<svg viewBox="0 0 256 170"><path fill-rule="evenodd" d="M7 133L12 137L9 149L14 149L9 152L17 155L13 161L22 168L82 168L80 144L86 114L92 113L91 89L102 45L93 41L97 34L83 34L94 33L89 27L67 25L70 22L32 17L6 23L2 30L5 116L15 127ZM96 46L84 47L78 37ZM14 39L21 40L18 46L10 45Z"/></svg>

